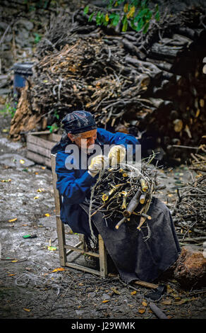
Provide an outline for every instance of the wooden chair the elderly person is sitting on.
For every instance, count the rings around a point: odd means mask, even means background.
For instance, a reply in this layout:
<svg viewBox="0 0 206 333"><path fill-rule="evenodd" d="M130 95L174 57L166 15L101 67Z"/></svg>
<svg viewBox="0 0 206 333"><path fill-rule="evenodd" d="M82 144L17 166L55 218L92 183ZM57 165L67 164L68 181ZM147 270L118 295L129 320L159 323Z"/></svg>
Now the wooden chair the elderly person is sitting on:
<svg viewBox="0 0 206 333"><path fill-rule="evenodd" d="M84 235L79 235L79 242L77 244L69 245L66 244L66 235L65 235L65 225L61 222L60 218L60 208L61 208L61 197L59 196L59 191L56 189L56 155L51 154L51 164L52 164L52 178L53 178L53 186L54 186L54 203L55 203L55 210L56 210L56 227L57 227L57 237L58 237L58 246L59 246L59 259L61 266L68 266L73 269L79 269L81 271L86 271L89 273L96 274L105 278L107 276L107 250L104 246L104 241L99 235L98 242L99 242L99 253L95 252L87 252L85 250L85 242L84 242ZM66 250L68 249L68 252ZM91 269L87 266L83 266L82 264L76 264L75 259L68 259L68 256L73 252L78 252L79 256L81 254L87 254L89 256L95 256L99 258L99 270Z"/></svg>

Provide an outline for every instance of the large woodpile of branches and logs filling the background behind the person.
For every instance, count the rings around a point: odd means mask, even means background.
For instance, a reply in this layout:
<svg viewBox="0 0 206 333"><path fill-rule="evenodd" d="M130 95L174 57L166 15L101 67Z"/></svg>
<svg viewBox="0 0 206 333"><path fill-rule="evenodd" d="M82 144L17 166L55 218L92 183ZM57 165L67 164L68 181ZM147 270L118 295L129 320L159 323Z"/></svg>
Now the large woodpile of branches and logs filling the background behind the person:
<svg viewBox="0 0 206 333"><path fill-rule="evenodd" d="M185 161L185 147L204 143L206 6L162 13L146 35L97 27L88 16L80 9L52 21L37 46L24 120L32 113L35 130L44 130L85 109L99 127L140 137L148 154L161 147L162 156ZM16 140L26 131L20 113L11 123Z"/></svg>

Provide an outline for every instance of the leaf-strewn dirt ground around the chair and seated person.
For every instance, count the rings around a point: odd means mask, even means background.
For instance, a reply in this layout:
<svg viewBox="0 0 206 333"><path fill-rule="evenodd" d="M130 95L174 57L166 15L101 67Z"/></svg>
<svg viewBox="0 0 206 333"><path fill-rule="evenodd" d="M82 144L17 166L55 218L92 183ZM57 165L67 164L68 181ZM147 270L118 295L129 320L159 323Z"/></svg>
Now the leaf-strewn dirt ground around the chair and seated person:
<svg viewBox="0 0 206 333"><path fill-rule="evenodd" d="M9 115L1 115L0 318L157 319L145 298L151 291L148 288L128 286L114 274L102 279L75 269L58 270L52 171L27 161L25 145L8 140L9 122ZM159 196L168 203L176 196L175 174L180 171L183 177L188 176L186 166L162 173L167 187ZM68 238L78 237L66 232ZM83 256L81 260L95 265ZM206 318L204 289L186 291L174 280L157 282L167 286L156 305L169 319Z"/></svg>

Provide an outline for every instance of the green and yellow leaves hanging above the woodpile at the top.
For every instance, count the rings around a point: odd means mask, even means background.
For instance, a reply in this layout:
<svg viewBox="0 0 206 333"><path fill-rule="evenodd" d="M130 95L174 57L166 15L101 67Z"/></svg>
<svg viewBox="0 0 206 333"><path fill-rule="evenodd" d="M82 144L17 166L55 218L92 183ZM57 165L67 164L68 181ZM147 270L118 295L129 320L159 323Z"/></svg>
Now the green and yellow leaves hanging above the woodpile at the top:
<svg viewBox="0 0 206 333"><path fill-rule="evenodd" d="M159 21L159 6L156 4L154 9L150 9L149 0L105 0L107 1L106 11L93 11L90 13L88 21L96 19L97 26L117 26L122 23L122 31L126 32L128 23L135 31L143 30L147 33L150 21L154 17ZM85 6L84 13L89 13L90 6Z"/></svg>

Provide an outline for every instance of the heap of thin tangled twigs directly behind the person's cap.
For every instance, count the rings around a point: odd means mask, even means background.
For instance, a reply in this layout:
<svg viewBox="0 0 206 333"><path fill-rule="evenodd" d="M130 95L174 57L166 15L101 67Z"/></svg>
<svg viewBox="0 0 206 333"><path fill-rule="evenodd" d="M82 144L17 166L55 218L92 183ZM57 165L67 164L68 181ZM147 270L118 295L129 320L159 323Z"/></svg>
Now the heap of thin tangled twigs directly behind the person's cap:
<svg viewBox="0 0 206 333"><path fill-rule="evenodd" d="M147 74L123 64L123 55L118 45L109 47L98 34L71 37L34 67L32 109L48 122L56 113L61 118L68 110L85 108L95 114L97 125L121 118L128 106L144 103L139 94L150 83Z"/></svg>

